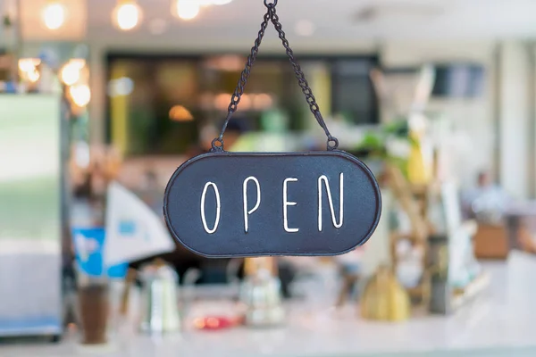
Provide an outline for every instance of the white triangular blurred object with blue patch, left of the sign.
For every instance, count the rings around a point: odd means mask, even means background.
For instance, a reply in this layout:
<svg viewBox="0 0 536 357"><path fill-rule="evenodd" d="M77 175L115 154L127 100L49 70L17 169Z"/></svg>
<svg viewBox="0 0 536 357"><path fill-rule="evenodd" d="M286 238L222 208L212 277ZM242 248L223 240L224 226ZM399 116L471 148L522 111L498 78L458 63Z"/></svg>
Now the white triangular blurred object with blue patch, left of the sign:
<svg viewBox="0 0 536 357"><path fill-rule="evenodd" d="M163 220L116 182L108 187L105 265L132 262L175 249Z"/></svg>

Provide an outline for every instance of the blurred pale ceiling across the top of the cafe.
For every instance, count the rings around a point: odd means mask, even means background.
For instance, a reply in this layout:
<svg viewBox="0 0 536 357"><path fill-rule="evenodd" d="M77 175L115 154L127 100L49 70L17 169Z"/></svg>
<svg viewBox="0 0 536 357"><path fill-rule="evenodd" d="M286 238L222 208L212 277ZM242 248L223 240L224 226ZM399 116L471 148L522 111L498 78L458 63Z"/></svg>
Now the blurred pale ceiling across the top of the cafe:
<svg viewBox="0 0 536 357"><path fill-rule="evenodd" d="M0 0L0 4L7 0ZM205 9L194 21L179 21L170 0L138 0L141 26L130 32L114 29L113 0L66 0L68 26L46 31L38 10L45 0L21 0L23 33L32 39L80 39L103 46L203 46L253 41L264 14L263 0L234 0ZM534 0L280 0L278 13L289 38L298 45L381 39L495 39L536 37ZM86 20L87 19L87 20ZM313 37L295 30L300 21L313 23ZM158 30L158 31L155 31ZM271 30L267 42L274 42ZM248 41L248 42L247 42Z"/></svg>

